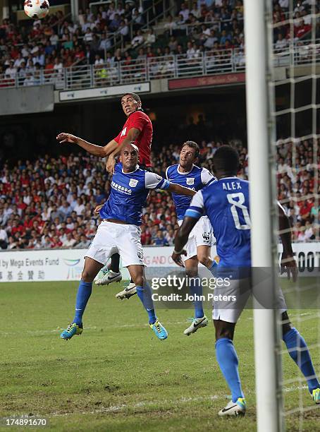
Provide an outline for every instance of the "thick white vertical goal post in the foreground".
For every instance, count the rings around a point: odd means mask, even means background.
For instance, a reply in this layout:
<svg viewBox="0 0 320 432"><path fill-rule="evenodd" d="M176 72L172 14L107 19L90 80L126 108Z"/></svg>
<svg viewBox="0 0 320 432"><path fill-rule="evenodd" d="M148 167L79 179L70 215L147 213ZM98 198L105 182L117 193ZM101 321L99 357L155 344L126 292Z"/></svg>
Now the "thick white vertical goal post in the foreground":
<svg viewBox="0 0 320 432"><path fill-rule="evenodd" d="M269 124L269 106L272 102L268 86L271 41L266 25L266 16L271 14L272 1L245 0L244 6L252 268L271 269L270 277L264 281L264 284L266 289L274 293L276 266L273 246L276 244L274 241L276 189L271 176L275 167L271 146L272 128ZM254 285L258 282L254 280L254 273L253 282ZM276 355L278 332L274 313L272 309L258 308L257 302L254 302L258 432L281 431L281 392L277 389L280 370Z"/></svg>

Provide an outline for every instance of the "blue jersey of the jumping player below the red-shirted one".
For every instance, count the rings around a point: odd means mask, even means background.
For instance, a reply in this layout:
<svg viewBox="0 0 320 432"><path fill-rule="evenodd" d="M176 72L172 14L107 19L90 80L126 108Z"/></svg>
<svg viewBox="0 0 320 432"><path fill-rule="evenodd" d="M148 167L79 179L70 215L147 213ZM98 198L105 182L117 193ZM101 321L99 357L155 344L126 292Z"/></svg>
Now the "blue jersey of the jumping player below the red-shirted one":
<svg viewBox="0 0 320 432"><path fill-rule="evenodd" d="M142 207L150 189L167 189L169 182L158 174L144 171L138 166L134 172L123 172L116 164L111 179L108 200L100 210L102 219L116 219L128 224L141 225Z"/></svg>

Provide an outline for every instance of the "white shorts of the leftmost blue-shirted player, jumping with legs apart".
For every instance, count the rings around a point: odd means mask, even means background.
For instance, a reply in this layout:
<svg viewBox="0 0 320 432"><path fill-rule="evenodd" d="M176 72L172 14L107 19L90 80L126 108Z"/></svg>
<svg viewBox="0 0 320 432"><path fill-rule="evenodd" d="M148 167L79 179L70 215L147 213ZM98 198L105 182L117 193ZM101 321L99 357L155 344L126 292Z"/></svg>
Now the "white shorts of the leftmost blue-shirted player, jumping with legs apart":
<svg viewBox="0 0 320 432"><path fill-rule="evenodd" d="M104 265L113 253L118 253L123 267L144 265L140 234L137 225L103 221L85 256Z"/></svg>

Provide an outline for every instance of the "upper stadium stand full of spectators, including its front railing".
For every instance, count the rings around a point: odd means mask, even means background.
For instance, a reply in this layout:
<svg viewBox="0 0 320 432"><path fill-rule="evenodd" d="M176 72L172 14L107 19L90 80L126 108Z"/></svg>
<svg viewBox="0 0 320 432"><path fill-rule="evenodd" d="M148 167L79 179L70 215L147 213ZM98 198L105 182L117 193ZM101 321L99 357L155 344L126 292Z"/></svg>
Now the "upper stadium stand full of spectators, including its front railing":
<svg viewBox="0 0 320 432"><path fill-rule="evenodd" d="M118 8L113 2L87 8L80 11L77 22L61 11L29 26L6 19L0 26L0 86L54 83L61 88L137 82L146 69L144 61L152 79L199 75L204 69L221 73L229 71L230 65L232 71L243 68L242 1L199 3L183 2L176 15L161 0L156 3L158 9L149 7L148 1L142 2L144 9L133 1L119 1ZM285 24L286 8L275 3L273 19L284 21L274 32L278 54L293 43L297 61L307 60L312 55L306 48L309 3L297 2L294 35ZM85 65L93 67L94 79L87 82Z"/></svg>

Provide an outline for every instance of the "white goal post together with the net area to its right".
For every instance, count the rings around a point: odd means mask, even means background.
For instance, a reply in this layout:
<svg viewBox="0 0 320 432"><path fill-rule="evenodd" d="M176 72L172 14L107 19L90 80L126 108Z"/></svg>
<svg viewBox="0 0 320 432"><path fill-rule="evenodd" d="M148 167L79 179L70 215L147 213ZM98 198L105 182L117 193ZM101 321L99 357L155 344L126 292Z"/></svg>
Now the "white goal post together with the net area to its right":
<svg viewBox="0 0 320 432"><path fill-rule="evenodd" d="M283 349L281 316L274 307L281 285L277 198L290 218L294 241L319 244L319 1L289 0L281 12L278 7L273 10L272 0L245 0L244 6L253 292L260 294L262 285L271 296L267 305L254 302L257 431L281 432L286 422L302 432L313 427L312 416L319 410L310 395L316 390L312 380L319 376L320 260L313 262L316 271L309 280L300 273L295 284L282 284L288 308L295 311L293 326L305 332L307 351L314 359L307 376L307 369L300 365L293 371L290 359L283 358L288 356L288 344ZM296 258L300 270L300 253ZM258 268L269 269L262 284ZM299 343L297 364L306 350Z"/></svg>

